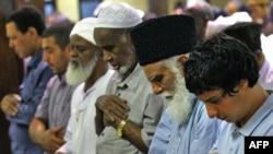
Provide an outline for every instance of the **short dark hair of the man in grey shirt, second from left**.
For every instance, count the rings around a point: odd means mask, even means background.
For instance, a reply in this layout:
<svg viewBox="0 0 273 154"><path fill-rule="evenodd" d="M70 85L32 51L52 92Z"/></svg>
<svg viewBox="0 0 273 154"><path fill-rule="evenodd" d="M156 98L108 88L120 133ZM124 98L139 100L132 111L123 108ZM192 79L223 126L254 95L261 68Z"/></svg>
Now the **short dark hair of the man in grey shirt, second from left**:
<svg viewBox="0 0 273 154"><path fill-rule="evenodd" d="M61 49L64 49L70 43L70 32L73 28L73 23L58 23L46 28L41 35L43 38L52 36L55 42L60 46Z"/></svg>

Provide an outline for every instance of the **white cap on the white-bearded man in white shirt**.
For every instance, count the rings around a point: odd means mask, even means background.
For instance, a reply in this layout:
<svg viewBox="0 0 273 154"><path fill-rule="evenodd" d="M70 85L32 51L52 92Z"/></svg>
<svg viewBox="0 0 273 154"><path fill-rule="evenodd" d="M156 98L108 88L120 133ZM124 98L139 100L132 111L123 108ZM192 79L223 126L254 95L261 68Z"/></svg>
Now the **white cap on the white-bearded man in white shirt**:
<svg viewBox="0 0 273 154"><path fill-rule="evenodd" d="M96 17L85 17L76 22L70 33L70 38L73 35L79 35L82 38L88 40L90 43L96 45L96 42L94 39L94 25L96 24Z"/></svg>

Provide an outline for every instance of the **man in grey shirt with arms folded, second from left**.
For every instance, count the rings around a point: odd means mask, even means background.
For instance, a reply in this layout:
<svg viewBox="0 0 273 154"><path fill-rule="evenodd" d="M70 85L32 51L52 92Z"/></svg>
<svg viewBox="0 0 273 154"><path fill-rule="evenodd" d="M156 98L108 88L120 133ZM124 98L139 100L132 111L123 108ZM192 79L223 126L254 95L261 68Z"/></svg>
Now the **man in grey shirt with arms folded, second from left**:
<svg viewBox="0 0 273 154"><path fill-rule="evenodd" d="M41 35L43 59L56 74L47 84L35 117L29 125L29 135L44 151L54 153L64 140L64 130L70 118L71 95L76 85L67 83L64 73L69 63L72 23L51 25Z"/></svg>

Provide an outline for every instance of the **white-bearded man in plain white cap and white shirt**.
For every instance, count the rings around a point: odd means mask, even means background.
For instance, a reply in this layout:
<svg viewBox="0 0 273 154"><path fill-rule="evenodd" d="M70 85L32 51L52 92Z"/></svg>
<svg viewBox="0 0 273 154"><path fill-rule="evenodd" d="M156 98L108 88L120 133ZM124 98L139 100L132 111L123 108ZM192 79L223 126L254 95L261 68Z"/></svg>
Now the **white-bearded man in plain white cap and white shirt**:
<svg viewBox="0 0 273 154"><path fill-rule="evenodd" d="M105 94L114 71L108 70L103 51L93 37L95 17L78 22L70 33L71 54L66 78L69 84L80 84L72 95L71 117L64 135L66 143L57 154L95 154L97 135L94 118L95 100Z"/></svg>

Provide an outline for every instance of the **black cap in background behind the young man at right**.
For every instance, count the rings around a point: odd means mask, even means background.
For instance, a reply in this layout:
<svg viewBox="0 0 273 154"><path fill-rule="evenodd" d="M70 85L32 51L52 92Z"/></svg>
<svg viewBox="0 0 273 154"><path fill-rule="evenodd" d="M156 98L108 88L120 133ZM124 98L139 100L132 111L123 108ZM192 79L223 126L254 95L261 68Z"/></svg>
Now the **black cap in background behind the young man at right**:
<svg viewBox="0 0 273 154"><path fill-rule="evenodd" d="M237 23L226 27L223 32L245 43L252 51L261 49L261 24L256 22Z"/></svg>

